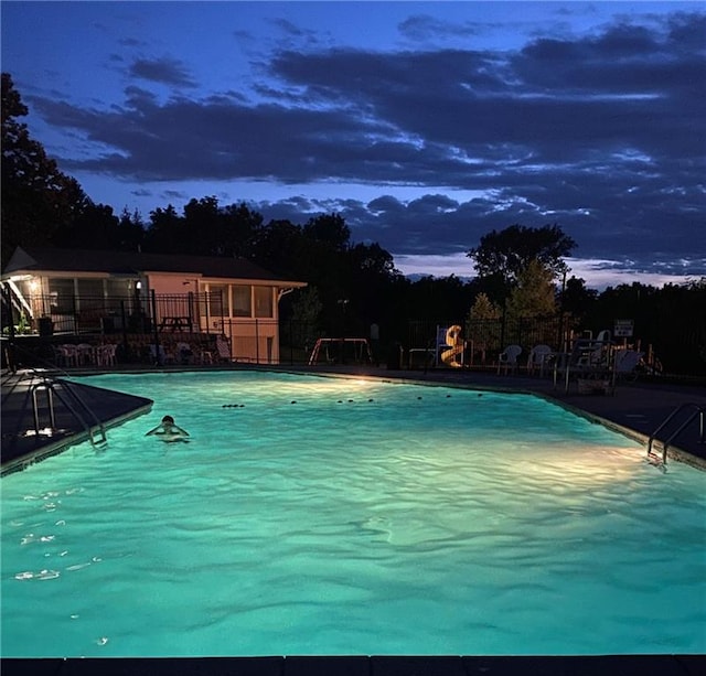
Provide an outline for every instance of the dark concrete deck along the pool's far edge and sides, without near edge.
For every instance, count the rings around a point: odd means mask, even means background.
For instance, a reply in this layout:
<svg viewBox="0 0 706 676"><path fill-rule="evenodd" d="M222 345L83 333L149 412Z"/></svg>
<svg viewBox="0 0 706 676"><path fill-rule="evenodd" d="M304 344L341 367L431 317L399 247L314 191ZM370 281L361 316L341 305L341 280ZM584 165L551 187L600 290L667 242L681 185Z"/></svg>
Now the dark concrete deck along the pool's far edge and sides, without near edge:
<svg viewBox="0 0 706 676"><path fill-rule="evenodd" d="M428 371L385 369L374 366L333 365L313 367L256 367L234 365L234 371L269 369L301 374L327 374L340 376L370 376L382 379L405 380L420 384L439 384L453 387L492 389L509 393L528 393L555 401L579 415L608 425L639 441L646 442L662 422L678 407L684 410L674 418L673 422L657 436L664 440L675 431L689 414L697 409L706 411L706 388L698 385L675 383L620 383L612 395L581 395L575 384L568 391L564 385L554 385L552 377L532 377L527 375L498 375L490 372L432 368ZM193 369L193 368L192 368ZM200 368L200 369L203 369ZM223 368L218 368L223 369ZM174 368L164 368L174 371ZM145 372L142 369L142 372ZM77 384L62 380L66 375L95 375L94 371L74 369L71 373L53 372L18 372L2 376L2 473L22 469L28 462L42 459L60 452L67 444L76 443L88 438L86 423L99 422L106 428L149 412L152 401L143 397L133 397L88 384ZM136 373L136 371L111 369L111 373ZM139 371L137 372L139 373ZM54 433L35 433L34 408L32 390L36 391L40 430L49 426L50 412L47 406L45 378L56 378L54 389ZM68 388L68 393L66 393ZM63 399L68 399L74 409L85 405L89 412L82 414L84 422L69 410ZM73 404L74 393L79 404ZM82 404L83 403L83 404ZM661 453L661 444L655 450ZM706 443L702 442L698 415L676 437L668 452L671 460L682 460L706 470ZM668 462L668 460L667 460Z"/></svg>

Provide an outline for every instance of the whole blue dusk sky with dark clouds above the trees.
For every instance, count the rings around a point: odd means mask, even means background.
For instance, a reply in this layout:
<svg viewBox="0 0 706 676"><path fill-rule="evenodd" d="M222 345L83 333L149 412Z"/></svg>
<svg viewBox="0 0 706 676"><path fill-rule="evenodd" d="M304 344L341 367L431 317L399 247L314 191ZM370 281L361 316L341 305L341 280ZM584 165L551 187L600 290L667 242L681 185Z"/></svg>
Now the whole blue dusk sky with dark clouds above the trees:
<svg viewBox="0 0 706 676"><path fill-rule="evenodd" d="M12 2L2 71L87 195L340 213L405 273L558 224L593 288L706 276L706 2Z"/></svg>

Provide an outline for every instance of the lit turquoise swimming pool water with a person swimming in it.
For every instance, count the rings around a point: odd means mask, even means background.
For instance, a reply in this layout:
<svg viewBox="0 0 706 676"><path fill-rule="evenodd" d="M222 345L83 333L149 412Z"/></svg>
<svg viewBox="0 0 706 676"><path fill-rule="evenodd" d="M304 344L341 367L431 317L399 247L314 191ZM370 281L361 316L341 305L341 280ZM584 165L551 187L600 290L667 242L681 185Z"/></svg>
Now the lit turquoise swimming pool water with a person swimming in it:
<svg viewBox="0 0 706 676"><path fill-rule="evenodd" d="M706 474L525 395L275 373L2 480L3 656L706 651ZM145 437L163 415L190 443Z"/></svg>

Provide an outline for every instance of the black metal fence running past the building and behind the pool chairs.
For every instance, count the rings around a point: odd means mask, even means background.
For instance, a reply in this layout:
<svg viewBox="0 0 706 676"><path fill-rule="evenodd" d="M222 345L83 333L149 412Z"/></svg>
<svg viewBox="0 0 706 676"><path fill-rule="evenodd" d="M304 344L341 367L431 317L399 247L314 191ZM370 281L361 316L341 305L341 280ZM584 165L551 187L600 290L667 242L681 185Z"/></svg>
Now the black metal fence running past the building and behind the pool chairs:
<svg viewBox="0 0 706 676"><path fill-rule="evenodd" d="M422 363L439 362L440 331L449 326L461 328L463 342L462 364L469 367L492 367L498 355L507 345L523 348L521 358L526 358L530 350L539 344L548 345L555 352L565 352L573 336L582 333L568 315L548 318L500 318L486 320L445 319L410 320L406 331L404 324L388 326L365 325L349 318L341 334L323 331L319 324L285 319L276 325L274 318L231 320L223 316L221 293L179 293L150 296L82 296L62 298L55 296L33 296L21 305L8 301L3 294L3 334L10 335L10 324L15 334L42 336L64 336L67 340L83 335L101 335L104 341L128 344L128 336L141 334L152 336L159 343L162 332L184 332L224 335L232 345L233 357L260 364L279 362L282 364L306 364L309 362L318 339L356 337L370 342L375 363L397 363L400 366L413 363L413 354L424 355ZM29 320L29 308L35 319ZM644 322L643 322L644 323ZM610 326L596 326L609 329ZM277 336L279 342L276 343ZM635 337L628 343L645 353L650 368L675 375L706 375L706 325L697 316L678 331L671 324L635 325ZM341 343L343 345L343 343ZM344 363L360 360L350 345L341 347L336 354L328 351L328 358ZM434 358L429 358L429 355Z"/></svg>

